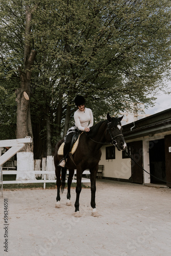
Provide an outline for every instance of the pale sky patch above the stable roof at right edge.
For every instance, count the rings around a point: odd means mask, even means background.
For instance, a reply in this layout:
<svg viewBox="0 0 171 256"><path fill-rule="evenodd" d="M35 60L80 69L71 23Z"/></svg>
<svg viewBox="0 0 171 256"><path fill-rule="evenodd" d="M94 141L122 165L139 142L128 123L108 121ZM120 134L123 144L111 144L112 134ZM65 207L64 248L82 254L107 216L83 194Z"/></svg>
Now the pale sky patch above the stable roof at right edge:
<svg viewBox="0 0 171 256"><path fill-rule="evenodd" d="M170 92L171 92L171 81L168 82L168 86L169 86ZM146 109L145 114L153 115L153 114L159 113L161 111L170 109L171 108L171 94L167 95L167 94L161 93L154 102L155 102L155 105L153 107Z"/></svg>

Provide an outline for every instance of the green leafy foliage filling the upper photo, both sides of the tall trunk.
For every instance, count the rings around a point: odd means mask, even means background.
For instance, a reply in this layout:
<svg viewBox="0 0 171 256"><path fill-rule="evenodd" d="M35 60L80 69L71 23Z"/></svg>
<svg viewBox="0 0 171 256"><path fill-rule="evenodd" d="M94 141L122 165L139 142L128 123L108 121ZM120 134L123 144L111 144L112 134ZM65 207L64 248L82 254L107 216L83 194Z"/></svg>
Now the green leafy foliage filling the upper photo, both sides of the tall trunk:
<svg viewBox="0 0 171 256"><path fill-rule="evenodd" d="M66 115L73 124L77 94L86 97L98 121L107 112L130 109L132 102L152 104L149 95L164 90L171 32L165 0L5 0L0 4L1 81L17 78L23 66L26 3L38 3L29 35L37 51L31 116L42 138L47 116L53 141L62 136Z"/></svg>

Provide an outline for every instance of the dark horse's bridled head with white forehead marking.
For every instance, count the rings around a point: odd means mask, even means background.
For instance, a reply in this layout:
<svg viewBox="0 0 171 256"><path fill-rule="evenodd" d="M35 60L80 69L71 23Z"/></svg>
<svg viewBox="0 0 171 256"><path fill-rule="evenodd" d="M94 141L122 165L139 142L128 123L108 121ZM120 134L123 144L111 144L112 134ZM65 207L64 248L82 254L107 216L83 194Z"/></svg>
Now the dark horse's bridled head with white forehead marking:
<svg viewBox="0 0 171 256"><path fill-rule="evenodd" d="M107 115L108 128L106 131L106 136L108 136L108 140L112 141L119 151L126 149L126 142L124 141L122 134L122 118L123 116L119 118L111 117L109 113Z"/></svg>

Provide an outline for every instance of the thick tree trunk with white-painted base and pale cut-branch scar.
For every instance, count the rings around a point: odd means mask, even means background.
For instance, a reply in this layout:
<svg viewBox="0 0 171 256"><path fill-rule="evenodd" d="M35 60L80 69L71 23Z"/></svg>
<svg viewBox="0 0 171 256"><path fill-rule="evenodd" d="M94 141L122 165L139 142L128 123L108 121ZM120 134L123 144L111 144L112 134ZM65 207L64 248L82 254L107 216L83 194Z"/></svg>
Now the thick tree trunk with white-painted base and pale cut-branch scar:
<svg viewBox="0 0 171 256"><path fill-rule="evenodd" d="M31 32L32 10L26 7L26 28L24 45L24 69L18 68L20 75L20 88L16 89L17 102L17 122L16 138L33 137L31 117L30 117L30 92L31 92L31 68L33 66L36 52L31 50L30 32ZM17 153L17 170L34 170L33 142L27 143L24 149ZM28 175L24 172L22 177L16 176L16 180L35 179L35 175Z"/></svg>

